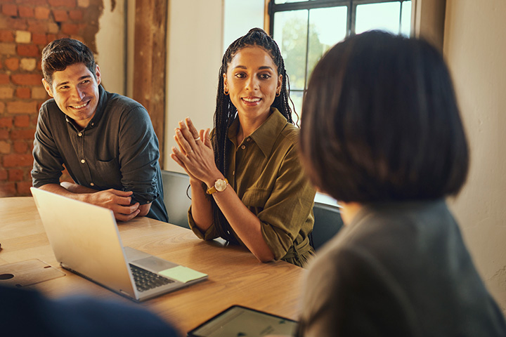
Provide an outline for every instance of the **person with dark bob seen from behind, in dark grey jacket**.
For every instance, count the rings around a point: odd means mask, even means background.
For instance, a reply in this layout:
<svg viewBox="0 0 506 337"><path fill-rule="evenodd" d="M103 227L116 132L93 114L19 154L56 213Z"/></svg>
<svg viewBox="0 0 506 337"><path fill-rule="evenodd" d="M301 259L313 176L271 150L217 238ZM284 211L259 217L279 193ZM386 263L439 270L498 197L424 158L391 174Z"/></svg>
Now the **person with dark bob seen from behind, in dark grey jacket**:
<svg viewBox="0 0 506 337"><path fill-rule="evenodd" d="M465 183L469 151L433 46L372 31L331 48L300 145L345 226L309 264L299 336L506 336L444 199Z"/></svg>

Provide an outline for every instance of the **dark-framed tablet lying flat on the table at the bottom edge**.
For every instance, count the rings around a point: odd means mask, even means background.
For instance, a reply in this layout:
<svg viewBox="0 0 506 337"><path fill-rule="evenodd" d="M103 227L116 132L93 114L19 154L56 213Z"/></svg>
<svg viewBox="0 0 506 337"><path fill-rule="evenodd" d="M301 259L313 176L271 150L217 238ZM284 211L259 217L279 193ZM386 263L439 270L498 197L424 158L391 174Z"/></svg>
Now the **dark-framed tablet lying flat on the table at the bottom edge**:
<svg viewBox="0 0 506 337"><path fill-rule="evenodd" d="M294 336L297 322L292 319L233 305L188 332L194 337Z"/></svg>

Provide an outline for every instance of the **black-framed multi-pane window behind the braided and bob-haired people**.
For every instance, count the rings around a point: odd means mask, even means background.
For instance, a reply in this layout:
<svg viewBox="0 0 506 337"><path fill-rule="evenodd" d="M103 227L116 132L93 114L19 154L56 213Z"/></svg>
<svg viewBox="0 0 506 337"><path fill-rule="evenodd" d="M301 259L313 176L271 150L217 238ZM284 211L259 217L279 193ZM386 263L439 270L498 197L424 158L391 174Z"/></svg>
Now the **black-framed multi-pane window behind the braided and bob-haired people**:
<svg viewBox="0 0 506 337"><path fill-rule="evenodd" d="M370 29L410 35L410 0L271 0L268 13L297 113L313 67L337 42Z"/></svg>

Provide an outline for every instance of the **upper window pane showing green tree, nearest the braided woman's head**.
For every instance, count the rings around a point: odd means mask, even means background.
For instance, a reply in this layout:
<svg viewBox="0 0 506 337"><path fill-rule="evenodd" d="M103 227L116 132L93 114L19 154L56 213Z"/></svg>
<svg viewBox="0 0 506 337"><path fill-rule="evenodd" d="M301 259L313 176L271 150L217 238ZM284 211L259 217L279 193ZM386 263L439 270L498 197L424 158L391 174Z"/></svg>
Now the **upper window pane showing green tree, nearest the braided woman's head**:
<svg viewBox="0 0 506 337"><path fill-rule="evenodd" d="M306 9L274 14L274 40L278 43L285 60L285 69L290 77L292 89L304 89L307 15Z"/></svg>

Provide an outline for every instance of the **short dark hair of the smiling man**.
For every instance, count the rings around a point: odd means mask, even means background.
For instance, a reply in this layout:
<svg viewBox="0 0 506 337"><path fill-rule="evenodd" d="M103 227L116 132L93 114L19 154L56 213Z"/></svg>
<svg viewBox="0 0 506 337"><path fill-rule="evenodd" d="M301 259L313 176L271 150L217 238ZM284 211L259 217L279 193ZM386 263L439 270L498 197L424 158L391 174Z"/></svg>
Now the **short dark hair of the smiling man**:
<svg viewBox="0 0 506 337"><path fill-rule="evenodd" d="M54 72L61 72L75 63L84 63L96 78L93 53L81 41L68 38L57 39L44 47L42 51L42 74L50 86L53 84Z"/></svg>

